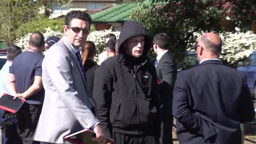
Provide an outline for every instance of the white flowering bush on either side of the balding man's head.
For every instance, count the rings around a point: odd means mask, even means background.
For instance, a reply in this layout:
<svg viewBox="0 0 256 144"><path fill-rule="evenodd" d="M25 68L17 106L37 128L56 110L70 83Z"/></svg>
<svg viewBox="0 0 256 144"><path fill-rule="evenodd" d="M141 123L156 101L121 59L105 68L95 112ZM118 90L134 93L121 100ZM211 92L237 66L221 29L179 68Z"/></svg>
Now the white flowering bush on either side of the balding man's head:
<svg viewBox="0 0 256 144"><path fill-rule="evenodd" d="M193 33L197 41L204 32ZM227 63L234 64L239 60L248 57L250 53L256 50L256 34L252 31L241 32L236 28L236 32L224 31L219 33L222 40L222 51L220 59ZM190 51L191 45L188 44L187 50Z"/></svg>

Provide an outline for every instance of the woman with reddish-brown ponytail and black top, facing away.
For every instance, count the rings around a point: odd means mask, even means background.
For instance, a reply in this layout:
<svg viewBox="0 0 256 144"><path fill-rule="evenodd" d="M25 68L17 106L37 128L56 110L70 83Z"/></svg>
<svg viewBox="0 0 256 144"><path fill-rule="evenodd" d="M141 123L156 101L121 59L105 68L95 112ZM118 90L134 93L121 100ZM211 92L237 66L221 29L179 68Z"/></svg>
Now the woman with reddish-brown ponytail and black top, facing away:
<svg viewBox="0 0 256 144"><path fill-rule="evenodd" d="M82 46L82 61L84 72L87 78L87 87L91 94L93 94L95 70L99 67L99 65L93 61L95 55L95 44L91 41L86 41Z"/></svg>

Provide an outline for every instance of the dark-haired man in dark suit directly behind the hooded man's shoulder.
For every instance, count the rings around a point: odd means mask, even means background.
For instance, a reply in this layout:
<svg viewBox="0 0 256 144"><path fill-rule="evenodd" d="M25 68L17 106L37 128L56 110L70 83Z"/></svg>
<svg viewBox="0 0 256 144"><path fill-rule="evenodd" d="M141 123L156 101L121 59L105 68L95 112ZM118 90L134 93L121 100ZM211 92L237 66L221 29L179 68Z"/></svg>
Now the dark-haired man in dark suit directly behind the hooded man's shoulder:
<svg viewBox="0 0 256 144"><path fill-rule="evenodd" d="M155 66L160 84L160 98L162 102L162 122L161 122L161 144L173 143L173 115L172 100L173 87L176 77L176 64L173 54L168 51L169 37L166 33L158 33L153 40L154 52L157 55Z"/></svg>

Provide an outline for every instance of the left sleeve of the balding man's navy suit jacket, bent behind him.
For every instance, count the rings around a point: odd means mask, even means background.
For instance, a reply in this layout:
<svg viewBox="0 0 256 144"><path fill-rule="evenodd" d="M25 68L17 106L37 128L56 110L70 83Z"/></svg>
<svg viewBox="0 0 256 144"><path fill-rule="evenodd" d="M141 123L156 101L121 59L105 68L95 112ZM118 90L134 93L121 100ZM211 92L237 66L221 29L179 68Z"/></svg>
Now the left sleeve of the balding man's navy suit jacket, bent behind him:
<svg viewBox="0 0 256 144"><path fill-rule="evenodd" d="M210 122L193 113L182 72L177 75L173 91L173 116L189 131L202 135L205 141L217 135L215 127Z"/></svg>

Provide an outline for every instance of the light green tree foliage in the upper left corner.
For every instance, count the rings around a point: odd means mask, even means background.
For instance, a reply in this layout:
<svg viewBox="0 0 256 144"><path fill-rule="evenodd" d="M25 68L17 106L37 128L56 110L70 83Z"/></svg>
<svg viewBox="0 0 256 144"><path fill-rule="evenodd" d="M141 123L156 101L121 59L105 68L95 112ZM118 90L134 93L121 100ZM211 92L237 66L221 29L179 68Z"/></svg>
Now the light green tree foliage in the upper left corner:
<svg viewBox="0 0 256 144"><path fill-rule="evenodd" d="M20 30L19 34L25 35L29 28L22 26L26 22L48 18L54 4L69 1L71 0L0 0L0 41L6 41L8 46L14 44L15 39L20 37L17 29Z"/></svg>

